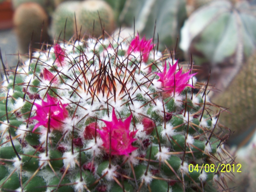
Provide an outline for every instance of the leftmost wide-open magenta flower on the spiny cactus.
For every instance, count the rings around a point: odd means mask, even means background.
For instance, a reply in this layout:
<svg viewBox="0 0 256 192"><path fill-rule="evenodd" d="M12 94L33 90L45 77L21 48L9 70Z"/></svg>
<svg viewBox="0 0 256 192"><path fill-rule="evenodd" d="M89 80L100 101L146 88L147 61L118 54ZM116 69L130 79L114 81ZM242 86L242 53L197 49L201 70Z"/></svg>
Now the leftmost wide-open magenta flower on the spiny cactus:
<svg viewBox="0 0 256 192"><path fill-rule="evenodd" d="M32 132L41 125L48 128L48 124L52 129L59 129L63 124L62 121L68 117L68 110L65 108L68 104L62 104L60 100L48 94L47 102L42 100L42 105L36 103L34 105L36 106L36 116L30 119L35 119L38 123Z"/></svg>

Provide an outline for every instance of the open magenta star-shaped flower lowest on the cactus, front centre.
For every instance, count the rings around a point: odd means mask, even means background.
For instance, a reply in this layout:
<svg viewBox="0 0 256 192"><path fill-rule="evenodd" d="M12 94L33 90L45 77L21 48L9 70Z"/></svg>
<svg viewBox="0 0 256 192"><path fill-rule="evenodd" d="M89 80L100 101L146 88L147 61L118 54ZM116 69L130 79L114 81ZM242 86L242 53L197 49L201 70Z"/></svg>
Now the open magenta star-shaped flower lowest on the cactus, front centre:
<svg viewBox="0 0 256 192"><path fill-rule="evenodd" d="M124 122L121 119L117 120L115 110L113 108L112 121L104 121L107 125L102 127L103 130L97 130L103 141L103 147L106 152L111 155L129 155L132 151L136 150L136 147L132 146L132 142L135 141L133 137L137 131L130 132L130 124L132 115L130 115ZM111 138L111 143L110 143ZM111 146L110 146L111 145ZM109 148L111 148L109 150Z"/></svg>

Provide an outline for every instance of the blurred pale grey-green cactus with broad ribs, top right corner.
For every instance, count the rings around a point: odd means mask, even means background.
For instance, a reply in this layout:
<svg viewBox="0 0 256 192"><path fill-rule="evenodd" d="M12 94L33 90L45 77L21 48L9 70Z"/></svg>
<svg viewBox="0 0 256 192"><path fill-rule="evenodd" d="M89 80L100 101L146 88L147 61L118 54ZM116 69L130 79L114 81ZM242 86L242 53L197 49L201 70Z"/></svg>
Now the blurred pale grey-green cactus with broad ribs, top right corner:
<svg viewBox="0 0 256 192"><path fill-rule="evenodd" d="M211 83L223 90L255 49L255 34L255 12L246 1L213 1L185 22L180 48L203 67L200 79L211 69Z"/></svg>

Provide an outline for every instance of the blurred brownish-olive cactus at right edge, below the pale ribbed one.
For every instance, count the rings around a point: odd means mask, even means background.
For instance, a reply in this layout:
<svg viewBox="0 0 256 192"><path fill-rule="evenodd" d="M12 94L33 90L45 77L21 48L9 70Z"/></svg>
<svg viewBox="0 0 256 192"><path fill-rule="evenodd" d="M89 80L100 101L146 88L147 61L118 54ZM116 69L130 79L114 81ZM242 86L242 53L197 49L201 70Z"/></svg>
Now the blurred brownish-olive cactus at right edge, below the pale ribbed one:
<svg viewBox="0 0 256 192"><path fill-rule="evenodd" d="M256 52L243 63L242 68L234 77L227 89L212 98L212 101L227 108L219 120L229 125L232 132L228 143L244 145L255 134L256 129Z"/></svg>

